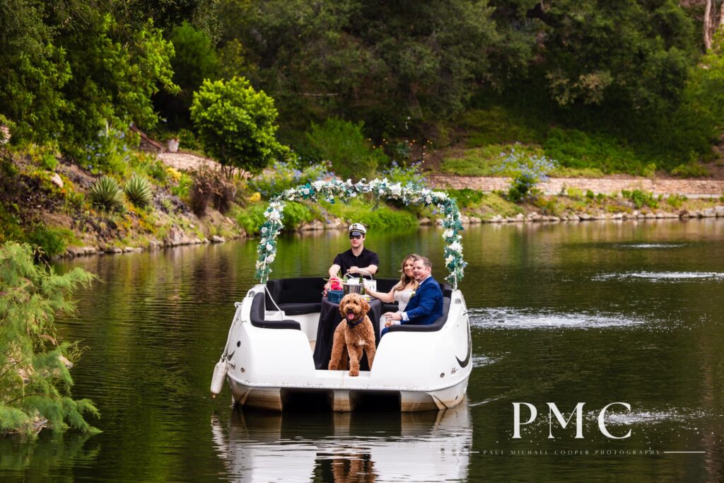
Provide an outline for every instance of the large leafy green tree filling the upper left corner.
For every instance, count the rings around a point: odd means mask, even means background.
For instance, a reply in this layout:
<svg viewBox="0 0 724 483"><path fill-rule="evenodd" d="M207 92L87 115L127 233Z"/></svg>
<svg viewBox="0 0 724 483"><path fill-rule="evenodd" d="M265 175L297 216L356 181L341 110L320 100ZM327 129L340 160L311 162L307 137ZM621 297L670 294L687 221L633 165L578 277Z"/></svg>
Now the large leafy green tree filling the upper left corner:
<svg viewBox="0 0 724 483"><path fill-rule="evenodd" d="M0 3L0 114L13 142L58 140L75 156L101 130L152 127L151 96L174 92L172 44L147 20L130 28L109 2Z"/></svg>

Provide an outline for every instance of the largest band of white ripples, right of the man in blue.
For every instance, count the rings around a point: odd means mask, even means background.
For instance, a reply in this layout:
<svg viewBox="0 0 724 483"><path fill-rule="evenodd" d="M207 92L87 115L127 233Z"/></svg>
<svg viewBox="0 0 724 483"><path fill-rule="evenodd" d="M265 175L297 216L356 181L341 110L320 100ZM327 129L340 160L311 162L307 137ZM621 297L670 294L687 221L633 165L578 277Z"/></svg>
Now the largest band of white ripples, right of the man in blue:
<svg viewBox="0 0 724 483"><path fill-rule="evenodd" d="M471 326L480 329L601 329L648 322L618 314L565 314L509 307L473 308L468 314Z"/></svg>

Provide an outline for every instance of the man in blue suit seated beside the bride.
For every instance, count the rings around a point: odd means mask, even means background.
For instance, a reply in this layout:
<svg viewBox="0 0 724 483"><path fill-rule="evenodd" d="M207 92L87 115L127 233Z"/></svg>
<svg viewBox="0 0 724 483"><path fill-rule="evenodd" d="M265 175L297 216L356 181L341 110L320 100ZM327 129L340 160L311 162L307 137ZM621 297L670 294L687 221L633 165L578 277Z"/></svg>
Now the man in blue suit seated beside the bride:
<svg viewBox="0 0 724 483"><path fill-rule="evenodd" d="M386 312L384 314L385 327L380 337L389 332L390 325L394 324L417 324L429 325L442 316L442 290L440 285L432 278L432 263L424 256L415 261L413 274L415 280L420 284L415 295L405 307L404 312Z"/></svg>

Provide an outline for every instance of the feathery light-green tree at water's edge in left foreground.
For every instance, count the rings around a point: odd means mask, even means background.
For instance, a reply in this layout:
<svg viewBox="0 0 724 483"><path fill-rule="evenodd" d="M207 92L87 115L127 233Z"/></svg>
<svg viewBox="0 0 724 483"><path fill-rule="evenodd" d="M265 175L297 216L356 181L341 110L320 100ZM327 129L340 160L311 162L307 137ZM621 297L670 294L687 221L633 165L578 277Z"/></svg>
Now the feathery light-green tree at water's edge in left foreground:
<svg viewBox="0 0 724 483"><path fill-rule="evenodd" d="M90 400L73 400L66 361L77 345L59 343L55 315L73 310L68 296L93 275L76 268L64 275L33 264L30 245L0 246L0 432L33 436L43 423L97 431L83 419L98 416Z"/></svg>

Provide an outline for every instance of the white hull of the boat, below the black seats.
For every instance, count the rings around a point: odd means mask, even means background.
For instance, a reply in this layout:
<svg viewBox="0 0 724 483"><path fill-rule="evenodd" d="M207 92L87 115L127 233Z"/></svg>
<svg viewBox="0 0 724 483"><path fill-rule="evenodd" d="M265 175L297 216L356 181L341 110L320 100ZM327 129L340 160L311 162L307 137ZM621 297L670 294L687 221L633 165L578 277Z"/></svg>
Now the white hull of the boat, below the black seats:
<svg viewBox="0 0 724 483"><path fill-rule="evenodd" d="M396 401L400 411L451 408L465 398L472 371L470 327L459 290L450 298L447 321L434 332L390 332L380 340L371 371L317 370L310 344L319 314L286 317L300 330L255 327L251 301L264 290L257 285L242 303L230 329L227 382L234 403L282 411L298 395L327 401L332 411L353 411L366 398Z"/></svg>

